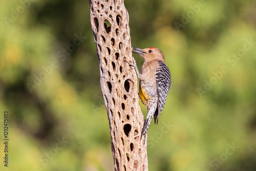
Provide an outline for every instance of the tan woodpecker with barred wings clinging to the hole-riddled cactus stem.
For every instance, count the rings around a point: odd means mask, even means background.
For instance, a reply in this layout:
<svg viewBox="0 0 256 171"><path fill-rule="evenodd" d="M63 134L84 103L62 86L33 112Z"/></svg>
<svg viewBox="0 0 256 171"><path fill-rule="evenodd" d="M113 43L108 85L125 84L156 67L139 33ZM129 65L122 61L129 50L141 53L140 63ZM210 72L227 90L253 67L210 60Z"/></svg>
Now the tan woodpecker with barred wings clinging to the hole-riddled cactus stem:
<svg viewBox="0 0 256 171"><path fill-rule="evenodd" d="M155 124L158 123L159 115L163 110L172 81L170 71L164 60L164 55L159 49L133 49L132 52L144 58L140 73L135 59L133 59L135 64L127 61L136 70L140 79L139 97L147 109L147 117L140 137L141 140L142 136L146 135L153 116Z"/></svg>

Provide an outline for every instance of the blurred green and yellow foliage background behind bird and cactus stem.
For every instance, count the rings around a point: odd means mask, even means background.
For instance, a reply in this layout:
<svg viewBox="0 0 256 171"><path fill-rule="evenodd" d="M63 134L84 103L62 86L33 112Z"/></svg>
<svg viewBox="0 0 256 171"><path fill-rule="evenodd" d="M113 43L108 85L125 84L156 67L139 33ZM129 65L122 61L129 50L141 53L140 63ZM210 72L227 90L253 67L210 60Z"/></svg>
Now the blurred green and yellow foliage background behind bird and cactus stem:
<svg viewBox="0 0 256 171"><path fill-rule="evenodd" d="M132 45L161 49L172 74L159 123L148 130L149 169L256 170L256 2L124 4ZM89 2L0 6L1 170L113 170Z"/></svg>

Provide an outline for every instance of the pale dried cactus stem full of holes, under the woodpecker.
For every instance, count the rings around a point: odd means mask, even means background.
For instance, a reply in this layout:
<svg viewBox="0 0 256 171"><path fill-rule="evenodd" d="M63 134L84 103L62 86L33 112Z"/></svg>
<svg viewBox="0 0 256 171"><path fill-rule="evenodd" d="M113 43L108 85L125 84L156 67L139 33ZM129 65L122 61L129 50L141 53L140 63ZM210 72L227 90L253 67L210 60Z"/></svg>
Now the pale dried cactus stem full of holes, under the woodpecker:
<svg viewBox="0 0 256 171"><path fill-rule="evenodd" d="M110 124L115 170L148 170L146 143L140 141L144 117L138 102L129 15L122 0L90 0L100 87Z"/></svg>

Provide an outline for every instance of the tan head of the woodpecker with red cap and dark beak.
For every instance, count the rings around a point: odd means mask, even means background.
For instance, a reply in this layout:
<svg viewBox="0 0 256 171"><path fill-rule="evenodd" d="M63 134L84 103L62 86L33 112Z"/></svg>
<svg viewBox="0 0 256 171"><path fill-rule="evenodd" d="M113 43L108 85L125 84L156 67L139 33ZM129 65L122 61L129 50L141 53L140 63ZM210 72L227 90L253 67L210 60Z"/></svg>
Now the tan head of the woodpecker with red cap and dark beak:
<svg viewBox="0 0 256 171"><path fill-rule="evenodd" d="M157 48L146 48L146 49L139 49L133 48L132 52L138 53L141 57L144 58L145 62L153 61L153 60L161 60L164 61L163 53Z"/></svg>

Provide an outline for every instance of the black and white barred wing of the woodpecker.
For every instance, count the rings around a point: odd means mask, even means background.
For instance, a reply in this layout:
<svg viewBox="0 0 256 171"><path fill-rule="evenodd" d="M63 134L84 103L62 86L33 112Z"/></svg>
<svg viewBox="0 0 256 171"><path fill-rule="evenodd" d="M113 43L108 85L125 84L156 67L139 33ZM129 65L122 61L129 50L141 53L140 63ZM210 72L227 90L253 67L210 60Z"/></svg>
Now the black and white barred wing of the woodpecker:
<svg viewBox="0 0 256 171"><path fill-rule="evenodd" d="M154 114L154 120L158 122L159 115L163 110L166 102L167 94L170 90L170 84L172 83L170 77L170 71L165 63L158 61L159 68L156 71L156 82L157 82L157 96L158 96L158 110ZM157 118L158 116L158 118Z"/></svg>

